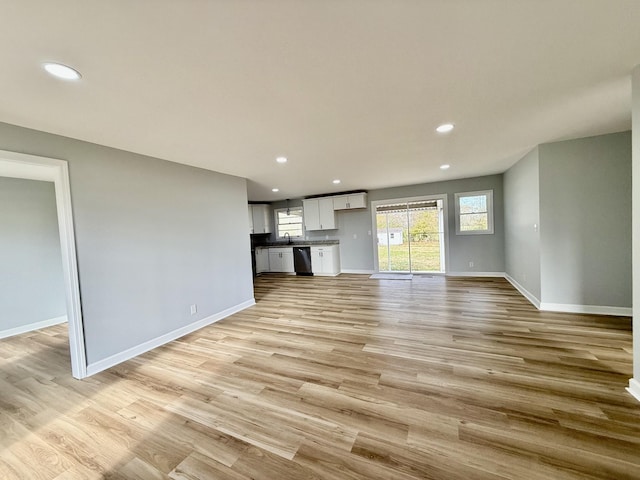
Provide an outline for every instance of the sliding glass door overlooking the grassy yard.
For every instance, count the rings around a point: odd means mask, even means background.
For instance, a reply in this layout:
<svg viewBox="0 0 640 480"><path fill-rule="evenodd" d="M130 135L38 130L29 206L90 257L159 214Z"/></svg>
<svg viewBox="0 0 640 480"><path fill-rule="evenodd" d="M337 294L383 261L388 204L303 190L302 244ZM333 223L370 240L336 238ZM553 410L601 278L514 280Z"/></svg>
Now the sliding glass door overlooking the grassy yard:
<svg viewBox="0 0 640 480"><path fill-rule="evenodd" d="M445 271L442 199L385 203L375 208L378 271Z"/></svg>

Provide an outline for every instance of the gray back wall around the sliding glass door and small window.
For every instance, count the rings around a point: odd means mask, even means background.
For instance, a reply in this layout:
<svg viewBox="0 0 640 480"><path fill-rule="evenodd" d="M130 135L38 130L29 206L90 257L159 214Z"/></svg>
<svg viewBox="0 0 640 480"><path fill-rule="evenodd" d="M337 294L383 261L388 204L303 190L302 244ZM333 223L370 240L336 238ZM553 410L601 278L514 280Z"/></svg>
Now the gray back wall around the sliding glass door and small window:
<svg viewBox="0 0 640 480"><path fill-rule="evenodd" d="M456 235L454 194L478 190L493 190L493 235ZM447 196L449 228L449 265L447 273L503 273L504 272L504 216L502 175L466 178L403 187L370 190L367 202L410 198L427 195ZM338 212L338 229L326 232L307 232L310 239L340 241L342 270L371 272L374 269L373 225L371 210ZM469 267L469 262L474 266Z"/></svg>

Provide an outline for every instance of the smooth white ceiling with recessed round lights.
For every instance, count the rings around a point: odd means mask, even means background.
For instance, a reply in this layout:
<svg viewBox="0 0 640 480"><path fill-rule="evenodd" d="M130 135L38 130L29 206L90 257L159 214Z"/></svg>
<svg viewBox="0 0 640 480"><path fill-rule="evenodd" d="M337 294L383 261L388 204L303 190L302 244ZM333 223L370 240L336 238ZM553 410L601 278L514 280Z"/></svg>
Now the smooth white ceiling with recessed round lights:
<svg viewBox="0 0 640 480"><path fill-rule="evenodd" d="M499 173L629 129L640 64L640 0L0 7L0 121L246 177L261 201Z"/></svg>

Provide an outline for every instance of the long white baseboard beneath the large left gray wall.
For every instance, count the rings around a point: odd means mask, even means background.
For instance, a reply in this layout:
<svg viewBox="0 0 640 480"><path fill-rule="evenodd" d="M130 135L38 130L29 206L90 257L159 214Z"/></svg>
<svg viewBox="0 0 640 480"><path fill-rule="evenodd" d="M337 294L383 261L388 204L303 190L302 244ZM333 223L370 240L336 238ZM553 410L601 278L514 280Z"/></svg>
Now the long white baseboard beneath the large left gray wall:
<svg viewBox="0 0 640 480"><path fill-rule="evenodd" d="M210 315L206 318L198 320L197 322L178 328L176 330L173 330L172 332L165 333L164 335L156 337L140 345L136 345L135 347L131 347L123 352L116 353L115 355L111 355L110 357L107 357L103 360L91 363L87 365L87 376L95 375L96 373L102 372L103 370L111 368L114 365L126 362L127 360L137 357L138 355L142 355L149 350L153 350L154 348L160 347L189 333L195 332L196 330L206 327L207 325L211 325L212 323L218 322L223 318L233 315L234 313L238 313L245 308L249 308L255 304L256 301L252 298L251 300L247 300L246 302L242 302L238 305L227 308L226 310L216 313L215 315Z"/></svg>

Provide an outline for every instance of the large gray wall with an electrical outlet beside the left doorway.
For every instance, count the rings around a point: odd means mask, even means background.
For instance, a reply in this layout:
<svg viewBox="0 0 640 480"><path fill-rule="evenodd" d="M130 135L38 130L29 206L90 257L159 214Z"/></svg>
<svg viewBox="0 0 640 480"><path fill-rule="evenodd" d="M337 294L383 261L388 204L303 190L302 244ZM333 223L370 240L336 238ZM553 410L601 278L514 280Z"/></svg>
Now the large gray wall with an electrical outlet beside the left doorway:
<svg viewBox="0 0 640 480"><path fill-rule="evenodd" d="M69 162L89 364L253 298L244 179L7 124L0 149Z"/></svg>

